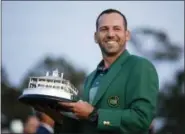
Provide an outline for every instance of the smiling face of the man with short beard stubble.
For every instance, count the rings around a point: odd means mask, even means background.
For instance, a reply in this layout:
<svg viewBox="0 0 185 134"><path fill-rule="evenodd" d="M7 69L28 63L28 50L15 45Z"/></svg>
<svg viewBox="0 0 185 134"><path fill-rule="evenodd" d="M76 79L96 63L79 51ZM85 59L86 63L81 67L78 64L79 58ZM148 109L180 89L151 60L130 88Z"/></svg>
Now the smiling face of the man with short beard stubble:
<svg viewBox="0 0 185 134"><path fill-rule="evenodd" d="M122 52L129 40L129 32L124 27L122 16L118 13L103 14L98 24L95 41L103 55L114 56Z"/></svg>

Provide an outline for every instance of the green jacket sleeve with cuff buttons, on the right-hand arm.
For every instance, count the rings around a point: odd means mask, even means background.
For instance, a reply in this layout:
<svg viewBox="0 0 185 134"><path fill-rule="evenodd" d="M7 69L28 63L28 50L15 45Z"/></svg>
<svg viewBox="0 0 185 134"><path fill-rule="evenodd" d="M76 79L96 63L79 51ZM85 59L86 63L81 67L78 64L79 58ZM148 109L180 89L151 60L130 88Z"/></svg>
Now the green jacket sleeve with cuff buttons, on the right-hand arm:
<svg viewBox="0 0 185 134"><path fill-rule="evenodd" d="M154 66L142 59L128 78L127 108L99 109L98 129L121 133L145 132L154 118L159 82Z"/></svg>

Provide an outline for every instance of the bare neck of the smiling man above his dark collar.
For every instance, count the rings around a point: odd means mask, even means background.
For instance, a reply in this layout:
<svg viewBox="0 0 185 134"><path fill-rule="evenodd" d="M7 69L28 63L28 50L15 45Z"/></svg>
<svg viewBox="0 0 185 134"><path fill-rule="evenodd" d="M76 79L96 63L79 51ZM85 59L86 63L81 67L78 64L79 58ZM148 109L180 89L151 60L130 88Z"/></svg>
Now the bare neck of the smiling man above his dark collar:
<svg viewBox="0 0 185 134"><path fill-rule="evenodd" d="M104 65L105 65L105 68L109 68L112 63L114 63L114 61L116 61L116 59L125 51L122 50L120 51L117 55L114 55L114 56L103 56L103 60L104 60Z"/></svg>

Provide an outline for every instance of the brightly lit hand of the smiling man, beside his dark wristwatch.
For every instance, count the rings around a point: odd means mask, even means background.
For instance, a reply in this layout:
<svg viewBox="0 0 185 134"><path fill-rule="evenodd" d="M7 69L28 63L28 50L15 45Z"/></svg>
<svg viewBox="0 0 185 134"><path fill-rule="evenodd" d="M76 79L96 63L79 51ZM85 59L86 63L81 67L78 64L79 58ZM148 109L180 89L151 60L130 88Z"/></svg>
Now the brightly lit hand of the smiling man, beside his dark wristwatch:
<svg viewBox="0 0 185 134"><path fill-rule="evenodd" d="M74 103L59 102L60 105L69 108L80 119L87 119L89 114L94 110L94 107L85 101Z"/></svg>

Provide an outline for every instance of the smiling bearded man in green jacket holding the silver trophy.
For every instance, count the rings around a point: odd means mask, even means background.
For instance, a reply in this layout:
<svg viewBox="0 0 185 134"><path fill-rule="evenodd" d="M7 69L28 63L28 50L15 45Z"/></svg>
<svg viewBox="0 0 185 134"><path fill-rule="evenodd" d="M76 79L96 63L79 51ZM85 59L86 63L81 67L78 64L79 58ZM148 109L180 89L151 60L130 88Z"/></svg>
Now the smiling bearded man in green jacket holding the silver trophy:
<svg viewBox="0 0 185 134"><path fill-rule="evenodd" d="M64 117L61 132L148 133L159 89L155 67L129 54L127 20L117 10L108 9L98 16L94 38L103 60L87 77L82 101L60 102L79 118Z"/></svg>

